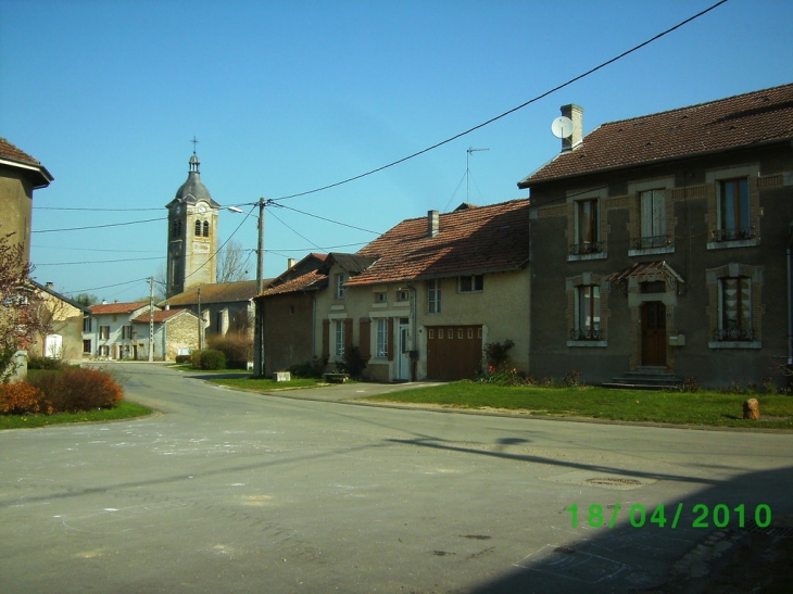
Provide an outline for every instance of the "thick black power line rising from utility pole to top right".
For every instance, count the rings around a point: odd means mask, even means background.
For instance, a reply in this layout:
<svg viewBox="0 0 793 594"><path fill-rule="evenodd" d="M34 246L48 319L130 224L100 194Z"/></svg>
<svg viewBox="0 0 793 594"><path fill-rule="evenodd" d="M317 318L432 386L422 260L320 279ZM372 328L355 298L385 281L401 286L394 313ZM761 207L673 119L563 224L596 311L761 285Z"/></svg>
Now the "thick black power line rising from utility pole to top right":
<svg viewBox="0 0 793 594"><path fill-rule="evenodd" d="M651 37L646 41L643 41L643 42L639 43L638 46L634 46L633 48L631 48L631 49L629 49L629 50L620 53L619 55L616 55L615 58L612 58L611 60L607 60L607 61L599 64L597 66L595 66L595 67L593 67L593 68L584 72L583 74L579 74L578 76L576 76L574 78L570 78L566 83L563 83L562 85L558 85L558 86L556 86L556 87L554 87L554 88L552 88L552 89L550 89L550 90L547 90L547 91L545 91L545 92L543 92L541 94L538 94L533 99L529 99L525 103L521 103L520 105L518 105L516 108L513 108L512 110L508 110L508 111L506 111L506 112L504 112L504 113L502 113L500 115L496 115L495 117L491 117L487 122L482 122L481 124L478 124L478 125L476 125L476 126L474 126L471 128L468 128L465 131L462 131L460 134L456 134L456 135L452 136L451 138L446 138L445 140L441 140L440 142L437 142L437 143L432 144L431 147L427 147L426 149L421 149L420 151L417 151L417 152L415 152L413 154L410 154L407 156L403 156L402 159L398 159L396 161L392 161L391 163L388 163L387 165L382 165L382 166L377 167L375 169L370 169L370 170L368 170L366 173L363 173L363 174L360 174L360 175L356 175L356 176L353 176L353 177L349 177L349 178L343 179L341 181L337 181L335 184L329 184L327 186L323 186L320 188L315 188L313 190L307 190L305 192L299 192L299 193L294 193L294 194L289 194L289 195L282 195L282 197L279 197L279 198L274 198L272 200L278 202L278 201L282 201L282 200L289 200L291 198L298 198L298 197L302 197L302 195L307 195L307 194L313 194L313 193L322 192L324 190L329 190L331 188L337 188L339 186L343 186L344 184L350 184L351 181L355 181L355 180L361 179L363 177L370 176L373 174L382 172L383 169L388 169L389 167L393 167L395 165L399 165L401 163L404 163L405 161L410 161L412 159L415 159L415 157L417 157L419 155L423 155L425 153L428 153L428 152L430 152L430 151L432 151L435 149L438 149L440 147L443 147L444 144L449 144L450 142L453 142L454 140L457 140L458 138L462 138L462 137L464 137L464 136L466 136L466 135L468 135L468 134L470 134L470 132L473 132L475 130L478 130L479 128L483 128L484 126L488 126L488 125L492 124L493 122L498 122L499 119L501 119L503 117L506 117L507 115L511 115L511 114L517 112L518 110L523 110L527 105L531 105L532 103L536 103L537 101L540 101L541 99L544 99L547 96L550 96L550 94L552 94L552 93L554 93L554 92L556 92L558 90L564 89L565 87L569 87L574 83L577 83L577 81L581 80L582 78L586 78L587 76L589 76L591 74L594 74L595 72L597 72L597 71L600 71L602 68L605 68L606 66L609 66L611 64L614 64L615 62L621 60L622 58L625 58L625 56L627 56L627 55L629 55L629 54L631 54L631 53L633 53L633 52L635 52L635 51L644 48L645 46L649 46L650 43L652 43L654 41L657 41L662 37L664 37L666 35L669 35L670 33L679 29L680 27L682 27L684 25L688 25L692 21L694 21L694 20L696 20L696 18L698 18L698 17L707 14L708 12L717 9L718 7L720 7L721 4L723 4L726 2L727 2L727 0L720 0L719 2L716 2L714 5L705 9L705 10L703 10L703 11L696 13L696 14L694 14L693 16L690 16L689 18L687 18L684 21L681 21L680 23L678 23L674 27L670 27L670 28L668 28L668 29L659 33L658 35L656 35L654 37Z"/></svg>

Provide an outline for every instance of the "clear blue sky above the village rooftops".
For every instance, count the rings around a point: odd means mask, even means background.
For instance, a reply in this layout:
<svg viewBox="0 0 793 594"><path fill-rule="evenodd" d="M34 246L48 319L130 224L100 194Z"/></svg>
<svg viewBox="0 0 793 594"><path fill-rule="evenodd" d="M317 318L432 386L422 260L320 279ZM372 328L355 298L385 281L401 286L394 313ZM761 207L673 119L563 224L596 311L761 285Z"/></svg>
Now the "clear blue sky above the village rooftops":
<svg viewBox="0 0 793 594"><path fill-rule="evenodd" d="M549 92L716 2L0 0L0 137L54 177L34 194L33 276L148 299L193 138L249 278L256 219L229 205L274 200L274 277L429 210L526 198L561 105L588 134L793 81L793 2L728 0Z"/></svg>

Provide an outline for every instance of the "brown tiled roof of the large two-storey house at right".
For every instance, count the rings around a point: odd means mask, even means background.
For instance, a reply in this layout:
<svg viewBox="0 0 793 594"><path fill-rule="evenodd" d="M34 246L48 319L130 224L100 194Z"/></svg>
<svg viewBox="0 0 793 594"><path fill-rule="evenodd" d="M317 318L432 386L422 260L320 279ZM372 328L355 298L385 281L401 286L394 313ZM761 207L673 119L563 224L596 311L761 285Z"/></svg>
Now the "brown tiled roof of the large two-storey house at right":
<svg viewBox="0 0 793 594"><path fill-rule="evenodd" d="M793 84L603 124L518 187L790 138Z"/></svg>

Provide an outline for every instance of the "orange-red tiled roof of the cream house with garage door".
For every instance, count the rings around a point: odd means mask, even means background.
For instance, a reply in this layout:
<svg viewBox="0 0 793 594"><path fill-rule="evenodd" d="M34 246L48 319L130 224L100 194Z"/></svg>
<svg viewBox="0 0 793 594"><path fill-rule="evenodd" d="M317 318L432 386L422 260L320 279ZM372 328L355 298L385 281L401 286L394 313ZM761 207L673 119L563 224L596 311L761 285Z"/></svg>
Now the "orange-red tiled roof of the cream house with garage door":
<svg viewBox="0 0 793 594"><path fill-rule="evenodd" d="M358 252L377 262L347 285L379 285L517 270L529 261L529 201L513 200L439 216L427 237L427 217L403 220Z"/></svg>

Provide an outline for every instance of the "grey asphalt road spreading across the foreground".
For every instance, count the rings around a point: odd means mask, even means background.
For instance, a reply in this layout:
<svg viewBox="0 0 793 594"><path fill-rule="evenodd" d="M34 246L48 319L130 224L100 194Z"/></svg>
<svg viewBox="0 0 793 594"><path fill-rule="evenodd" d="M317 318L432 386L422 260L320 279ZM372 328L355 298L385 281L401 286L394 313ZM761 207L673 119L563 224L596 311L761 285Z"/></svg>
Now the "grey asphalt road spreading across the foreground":
<svg viewBox="0 0 793 594"><path fill-rule="evenodd" d="M791 433L355 406L332 401L394 387L284 397L123 369L127 399L159 415L0 431L0 592L641 591L695 569L741 511L793 513Z"/></svg>

